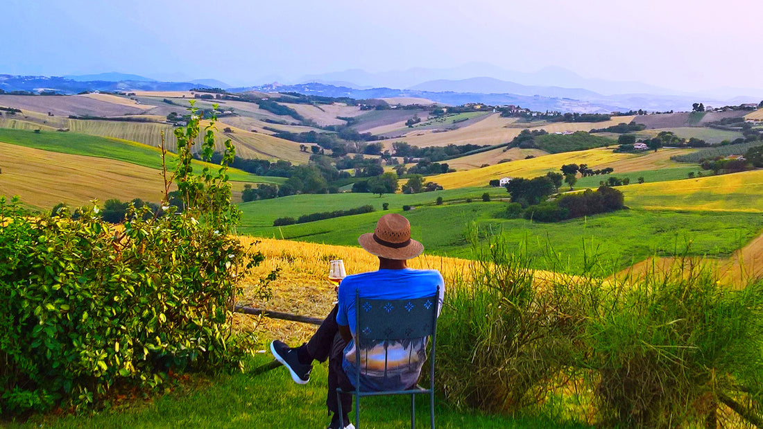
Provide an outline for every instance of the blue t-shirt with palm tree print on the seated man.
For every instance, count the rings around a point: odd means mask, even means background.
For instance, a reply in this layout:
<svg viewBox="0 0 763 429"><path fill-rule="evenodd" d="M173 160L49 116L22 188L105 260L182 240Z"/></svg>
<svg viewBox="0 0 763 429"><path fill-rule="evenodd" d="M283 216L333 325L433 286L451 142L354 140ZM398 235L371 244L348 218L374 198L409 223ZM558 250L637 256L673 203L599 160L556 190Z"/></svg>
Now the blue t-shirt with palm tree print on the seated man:
<svg viewBox="0 0 763 429"><path fill-rule="evenodd" d="M439 287L439 308L443 306L445 282L435 270L379 270L345 277L339 287L336 323L349 326L356 338L355 292L369 299L414 299L430 296ZM427 338L416 341L378 341L361 353L365 390L401 390L413 386L426 360ZM355 341L344 349L342 367L353 385L356 382ZM355 386L356 388L358 386Z"/></svg>

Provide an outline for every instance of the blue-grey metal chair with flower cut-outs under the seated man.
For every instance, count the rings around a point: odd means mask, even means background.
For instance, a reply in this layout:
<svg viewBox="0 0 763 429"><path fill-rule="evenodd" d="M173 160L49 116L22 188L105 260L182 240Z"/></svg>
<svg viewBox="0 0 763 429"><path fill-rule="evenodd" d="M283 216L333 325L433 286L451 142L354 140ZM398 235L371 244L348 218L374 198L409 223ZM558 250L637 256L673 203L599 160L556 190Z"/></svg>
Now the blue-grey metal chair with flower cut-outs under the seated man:
<svg viewBox="0 0 763 429"><path fill-rule="evenodd" d="M363 396L380 395L410 395L410 427L414 429L416 424L416 395L430 395L430 420L434 429L434 353L436 344L437 313L439 306L439 287L433 296L425 296L417 299L365 299L355 296L356 305L356 344L355 364L358 368L355 386L352 391L336 389L339 402L339 415L343 420L342 399L340 394L349 394L355 397L355 427L360 424L360 398ZM375 341L384 341L386 345L390 341L427 341L430 338L430 388L424 389L416 384L407 390L394 391L368 391L361 389L360 377L365 372L361 367L360 356L364 347ZM424 346L426 349L426 345ZM386 361L386 356L385 356ZM346 422L342 421L342 427Z"/></svg>

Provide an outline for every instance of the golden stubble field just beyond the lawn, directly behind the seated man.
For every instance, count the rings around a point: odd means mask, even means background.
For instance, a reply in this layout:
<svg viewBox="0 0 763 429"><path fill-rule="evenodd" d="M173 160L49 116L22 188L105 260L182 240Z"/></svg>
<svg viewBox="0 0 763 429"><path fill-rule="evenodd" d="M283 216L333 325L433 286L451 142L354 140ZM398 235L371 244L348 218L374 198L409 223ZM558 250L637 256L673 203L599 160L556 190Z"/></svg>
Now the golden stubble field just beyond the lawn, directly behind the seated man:
<svg viewBox="0 0 763 429"><path fill-rule="evenodd" d="M357 274L378 269L378 258L359 247L320 245L315 243L291 242L288 240L256 239L241 236L245 246L265 255L265 261L243 280L243 296L237 304L261 309L289 312L323 318L336 300L333 285L327 280L329 261L342 259L347 274ZM408 261L408 266L417 269L433 269L443 274L446 289L456 279L468 275L474 261L457 258L421 255ZM278 269L278 279L270 284L272 298L266 301L253 296L259 279ZM557 274L536 271L539 284L554 278ZM446 292L447 293L447 292ZM253 329L256 325L268 331L274 338L290 341L305 341L315 331L314 325L287 322L266 317L237 315L240 327Z"/></svg>

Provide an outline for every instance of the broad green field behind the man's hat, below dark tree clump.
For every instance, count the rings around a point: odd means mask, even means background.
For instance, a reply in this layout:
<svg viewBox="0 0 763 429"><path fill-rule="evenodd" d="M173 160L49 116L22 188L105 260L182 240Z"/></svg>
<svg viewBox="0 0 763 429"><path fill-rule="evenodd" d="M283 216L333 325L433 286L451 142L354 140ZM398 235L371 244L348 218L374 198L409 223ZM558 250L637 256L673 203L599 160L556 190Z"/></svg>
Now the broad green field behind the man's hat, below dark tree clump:
<svg viewBox="0 0 763 429"><path fill-rule="evenodd" d="M533 267L571 273L583 271L584 258L596 257L600 264L622 269L653 255L681 254L690 243L691 255L725 257L763 229L759 213L624 210L561 223L536 223L497 218L505 206L480 201L420 206L407 212L394 207L391 211L410 219L414 239L420 240L430 254L470 258L472 250L465 232L475 225L481 236L501 232L508 242L526 243ZM242 228L239 232L357 245L357 237L372 231L379 216L381 212L365 213L300 225Z"/></svg>

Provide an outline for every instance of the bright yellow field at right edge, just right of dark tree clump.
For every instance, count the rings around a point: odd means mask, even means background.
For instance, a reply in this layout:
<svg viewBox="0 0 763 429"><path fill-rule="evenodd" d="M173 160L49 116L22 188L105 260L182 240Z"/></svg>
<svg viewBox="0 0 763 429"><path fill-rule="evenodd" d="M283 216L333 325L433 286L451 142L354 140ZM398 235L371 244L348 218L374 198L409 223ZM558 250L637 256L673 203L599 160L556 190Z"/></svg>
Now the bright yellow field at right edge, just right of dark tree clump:
<svg viewBox="0 0 763 429"><path fill-rule="evenodd" d="M630 184L620 190L628 206L644 209L763 213L763 170Z"/></svg>

